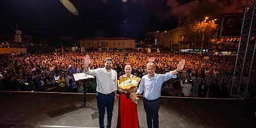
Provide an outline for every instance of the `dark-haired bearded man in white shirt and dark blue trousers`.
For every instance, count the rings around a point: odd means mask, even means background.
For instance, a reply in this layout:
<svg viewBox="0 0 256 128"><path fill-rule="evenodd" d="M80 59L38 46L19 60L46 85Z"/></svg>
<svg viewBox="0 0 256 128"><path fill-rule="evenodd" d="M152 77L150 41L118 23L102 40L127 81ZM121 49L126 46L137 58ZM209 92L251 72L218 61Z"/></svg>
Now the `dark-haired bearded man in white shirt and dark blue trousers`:
<svg viewBox="0 0 256 128"><path fill-rule="evenodd" d="M107 108L108 122L106 126L111 127L117 90L117 74L115 70L111 69L113 67L113 61L111 58L106 58L104 68L93 70L88 68L89 65L90 56L86 55L84 58L84 73L93 75L97 79L96 99L99 110L99 126L104 127L105 108Z"/></svg>

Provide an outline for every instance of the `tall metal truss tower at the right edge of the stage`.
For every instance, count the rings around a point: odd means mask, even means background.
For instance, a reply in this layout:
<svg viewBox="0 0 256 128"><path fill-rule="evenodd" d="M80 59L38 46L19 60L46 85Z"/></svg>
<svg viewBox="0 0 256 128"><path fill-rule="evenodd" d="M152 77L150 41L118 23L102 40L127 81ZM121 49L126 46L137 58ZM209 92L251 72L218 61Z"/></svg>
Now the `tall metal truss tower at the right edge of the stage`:
<svg viewBox="0 0 256 128"><path fill-rule="evenodd" d="M243 26L230 91L230 95L237 98L246 98L253 69L256 39L255 1L246 0L244 8Z"/></svg>

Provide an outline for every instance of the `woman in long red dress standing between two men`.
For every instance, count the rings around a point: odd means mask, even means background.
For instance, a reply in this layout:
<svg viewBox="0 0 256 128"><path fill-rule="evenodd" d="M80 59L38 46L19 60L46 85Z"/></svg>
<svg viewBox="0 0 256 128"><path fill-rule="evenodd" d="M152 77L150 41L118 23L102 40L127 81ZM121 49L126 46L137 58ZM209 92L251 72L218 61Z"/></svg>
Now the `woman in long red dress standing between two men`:
<svg viewBox="0 0 256 128"><path fill-rule="evenodd" d="M136 77L131 74L131 65L125 65L125 74L120 76L120 78L131 78ZM132 102L130 98L130 93L118 88L120 92L119 104L118 104L118 117L117 117L117 128L137 128L139 127L137 104ZM134 90L135 91L135 90Z"/></svg>

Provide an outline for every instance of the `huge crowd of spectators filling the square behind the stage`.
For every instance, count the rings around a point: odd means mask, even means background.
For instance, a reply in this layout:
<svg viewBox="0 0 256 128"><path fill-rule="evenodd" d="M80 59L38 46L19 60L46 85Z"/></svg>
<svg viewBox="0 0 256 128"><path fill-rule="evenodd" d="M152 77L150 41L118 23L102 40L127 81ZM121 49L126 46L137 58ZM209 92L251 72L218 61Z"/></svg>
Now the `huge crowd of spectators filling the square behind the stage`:
<svg viewBox="0 0 256 128"><path fill-rule="evenodd" d="M72 74L84 71L86 54L91 56L91 69L104 67L104 59L113 58L113 69L118 77L125 73L124 67L127 64L131 65L133 75L144 76L147 74L145 64L148 58L154 58L157 74L174 70L179 61L184 59L186 65L177 80L193 80L192 85L198 88L198 93L193 95L196 97L223 97L223 93L227 96L236 61L235 56L212 55L205 59L200 54L188 52L89 51L15 56L3 54L0 56L1 90L45 91L47 86L55 84L54 86L60 87L60 92L83 92L83 83L74 81ZM89 83L95 84L95 79ZM95 87L92 86L90 91L95 91Z"/></svg>

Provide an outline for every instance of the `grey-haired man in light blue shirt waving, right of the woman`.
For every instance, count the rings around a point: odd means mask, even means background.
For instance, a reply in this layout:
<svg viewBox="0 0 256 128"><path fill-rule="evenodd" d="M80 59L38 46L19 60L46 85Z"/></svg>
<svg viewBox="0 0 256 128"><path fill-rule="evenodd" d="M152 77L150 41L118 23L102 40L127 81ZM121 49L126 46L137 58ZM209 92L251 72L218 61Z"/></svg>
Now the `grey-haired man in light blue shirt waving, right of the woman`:
<svg viewBox="0 0 256 128"><path fill-rule="evenodd" d="M185 60L182 60L177 65L176 70L172 70L166 74L156 74L156 67L154 63L147 63L146 68L148 74L141 78L137 94L141 94L142 92L144 92L143 105L147 114L147 126L149 128L152 128L152 126L154 126L154 128L159 127L158 111L160 108L159 97L161 95L162 84L164 83L164 81L168 81L168 79L176 78L176 74L179 74L179 72L181 72L181 70L184 68L184 64Z"/></svg>

